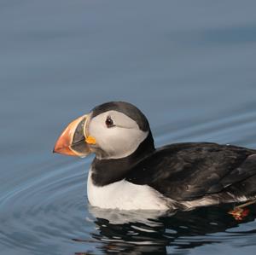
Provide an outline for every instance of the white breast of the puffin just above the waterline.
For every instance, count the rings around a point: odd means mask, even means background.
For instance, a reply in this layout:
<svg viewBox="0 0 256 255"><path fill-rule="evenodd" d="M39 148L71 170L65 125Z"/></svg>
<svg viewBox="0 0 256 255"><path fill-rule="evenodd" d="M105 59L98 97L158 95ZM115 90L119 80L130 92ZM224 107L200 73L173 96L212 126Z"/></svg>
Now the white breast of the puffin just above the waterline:
<svg viewBox="0 0 256 255"><path fill-rule="evenodd" d="M137 185L121 180L103 187L92 183L91 170L87 182L91 206L119 210L167 210L163 196L148 185Z"/></svg>

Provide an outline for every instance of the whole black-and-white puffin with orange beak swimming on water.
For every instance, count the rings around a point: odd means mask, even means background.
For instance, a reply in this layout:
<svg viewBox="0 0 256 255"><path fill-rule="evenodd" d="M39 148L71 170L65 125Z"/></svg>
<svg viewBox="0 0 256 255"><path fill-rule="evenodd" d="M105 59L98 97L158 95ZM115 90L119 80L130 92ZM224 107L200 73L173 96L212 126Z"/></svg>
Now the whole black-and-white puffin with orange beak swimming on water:
<svg viewBox="0 0 256 255"><path fill-rule="evenodd" d="M134 105L109 101L73 120L54 152L95 154L90 206L119 210L192 210L248 202L256 195L256 150L214 142L154 147L148 119Z"/></svg>

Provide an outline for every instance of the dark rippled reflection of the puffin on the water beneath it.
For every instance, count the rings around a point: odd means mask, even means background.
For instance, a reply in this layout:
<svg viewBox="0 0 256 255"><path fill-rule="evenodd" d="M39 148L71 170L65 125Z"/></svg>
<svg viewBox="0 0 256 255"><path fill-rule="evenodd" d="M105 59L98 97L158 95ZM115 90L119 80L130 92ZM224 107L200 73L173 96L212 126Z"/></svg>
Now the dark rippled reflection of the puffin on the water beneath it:
<svg viewBox="0 0 256 255"><path fill-rule="evenodd" d="M211 206L159 215L159 212L120 212L90 207L98 229L98 233L91 236L101 243L99 249L106 254L166 254L168 248L187 253L187 249L196 246L255 233L256 229L236 232L232 228L253 221L256 205L247 206L250 213L241 221L228 213L232 208L231 205ZM213 235L219 232L224 234Z"/></svg>

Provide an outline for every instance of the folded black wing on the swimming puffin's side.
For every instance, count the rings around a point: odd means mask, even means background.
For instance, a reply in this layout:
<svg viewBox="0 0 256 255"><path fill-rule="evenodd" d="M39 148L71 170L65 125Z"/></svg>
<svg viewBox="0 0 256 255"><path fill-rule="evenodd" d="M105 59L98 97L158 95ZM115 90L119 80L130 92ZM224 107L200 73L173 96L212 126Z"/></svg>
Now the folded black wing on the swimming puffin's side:
<svg viewBox="0 0 256 255"><path fill-rule="evenodd" d="M174 200L193 200L253 175L256 150L193 142L160 148L134 167L126 180L148 184Z"/></svg>

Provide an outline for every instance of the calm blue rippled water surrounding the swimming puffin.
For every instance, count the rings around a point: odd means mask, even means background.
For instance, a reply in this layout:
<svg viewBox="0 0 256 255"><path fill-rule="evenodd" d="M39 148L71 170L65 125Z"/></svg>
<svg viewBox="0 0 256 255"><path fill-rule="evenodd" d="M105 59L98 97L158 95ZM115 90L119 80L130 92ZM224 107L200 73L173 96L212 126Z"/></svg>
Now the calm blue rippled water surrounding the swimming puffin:
<svg viewBox="0 0 256 255"><path fill-rule="evenodd" d="M155 143L256 148L255 1L2 0L1 254L254 254L256 207L157 217L90 208L88 159L52 154L92 107L130 101ZM80 253L79 253L80 252Z"/></svg>

